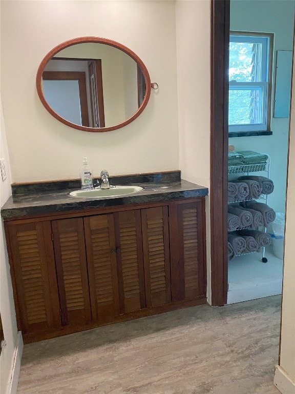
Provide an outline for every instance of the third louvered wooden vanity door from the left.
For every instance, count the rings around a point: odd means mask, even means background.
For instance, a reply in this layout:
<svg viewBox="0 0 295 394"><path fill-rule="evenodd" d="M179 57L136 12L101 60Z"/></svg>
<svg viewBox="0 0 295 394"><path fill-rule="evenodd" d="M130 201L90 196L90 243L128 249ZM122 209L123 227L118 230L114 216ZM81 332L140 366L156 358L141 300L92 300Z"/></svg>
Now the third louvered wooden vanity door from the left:
<svg viewBox="0 0 295 394"><path fill-rule="evenodd" d="M93 320L119 316L116 245L113 214L84 218Z"/></svg>

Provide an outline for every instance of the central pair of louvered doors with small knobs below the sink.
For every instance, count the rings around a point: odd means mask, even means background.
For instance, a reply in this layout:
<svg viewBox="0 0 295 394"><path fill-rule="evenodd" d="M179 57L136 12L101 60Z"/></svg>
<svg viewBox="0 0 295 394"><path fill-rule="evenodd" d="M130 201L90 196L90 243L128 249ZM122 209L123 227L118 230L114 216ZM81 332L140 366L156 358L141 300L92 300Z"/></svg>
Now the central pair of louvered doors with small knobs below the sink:
<svg viewBox="0 0 295 394"><path fill-rule="evenodd" d="M93 319L145 307L140 210L84 218Z"/></svg>

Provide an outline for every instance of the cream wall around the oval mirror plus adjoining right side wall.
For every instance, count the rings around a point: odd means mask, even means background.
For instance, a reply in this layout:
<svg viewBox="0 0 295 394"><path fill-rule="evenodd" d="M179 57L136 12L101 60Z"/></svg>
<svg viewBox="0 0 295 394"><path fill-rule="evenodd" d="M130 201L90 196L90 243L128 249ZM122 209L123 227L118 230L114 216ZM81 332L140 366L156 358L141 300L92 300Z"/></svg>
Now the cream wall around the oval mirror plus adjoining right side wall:
<svg viewBox="0 0 295 394"><path fill-rule="evenodd" d="M209 187L210 0L24 0L1 6L2 96L12 182L77 178L87 156L96 176L102 168L111 175L181 169L183 179ZM35 75L41 60L61 42L87 35L132 49L159 85L138 119L122 129L71 129L39 102ZM19 59L24 60L22 73ZM208 295L210 300L210 288Z"/></svg>

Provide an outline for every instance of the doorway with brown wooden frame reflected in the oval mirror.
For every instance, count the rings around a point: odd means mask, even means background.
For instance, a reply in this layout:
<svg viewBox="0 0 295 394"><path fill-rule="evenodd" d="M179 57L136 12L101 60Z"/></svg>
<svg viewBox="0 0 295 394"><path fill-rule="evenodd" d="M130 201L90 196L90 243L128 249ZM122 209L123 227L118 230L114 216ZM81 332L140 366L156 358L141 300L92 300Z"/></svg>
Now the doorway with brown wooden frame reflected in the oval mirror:
<svg viewBox="0 0 295 394"><path fill-rule="evenodd" d="M42 78L50 107L74 124L104 127L101 60L53 57L47 67Z"/></svg>

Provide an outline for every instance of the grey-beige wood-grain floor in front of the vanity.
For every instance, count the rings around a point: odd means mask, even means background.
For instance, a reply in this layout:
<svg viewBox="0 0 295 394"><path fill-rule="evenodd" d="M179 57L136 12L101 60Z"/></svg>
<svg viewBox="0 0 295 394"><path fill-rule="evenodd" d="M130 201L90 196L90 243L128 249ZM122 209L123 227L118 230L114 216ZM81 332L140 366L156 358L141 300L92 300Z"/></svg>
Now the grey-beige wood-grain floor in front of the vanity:
<svg viewBox="0 0 295 394"><path fill-rule="evenodd" d="M281 297L200 305L24 347L18 394L279 394Z"/></svg>

